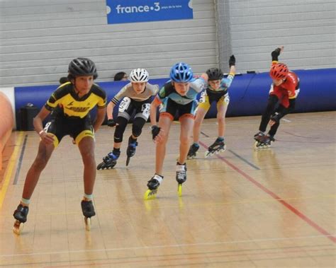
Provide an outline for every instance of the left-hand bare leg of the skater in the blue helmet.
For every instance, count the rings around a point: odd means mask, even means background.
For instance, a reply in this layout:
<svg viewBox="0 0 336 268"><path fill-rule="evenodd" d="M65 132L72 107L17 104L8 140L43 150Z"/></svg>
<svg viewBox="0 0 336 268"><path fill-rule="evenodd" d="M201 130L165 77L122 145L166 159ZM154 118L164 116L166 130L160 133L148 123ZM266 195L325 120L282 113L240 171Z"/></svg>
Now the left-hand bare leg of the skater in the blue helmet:
<svg viewBox="0 0 336 268"><path fill-rule="evenodd" d="M168 116L159 117L159 127L162 129L162 140L157 142L155 151L155 173L162 175L164 156L166 155L166 144L169 136L169 129L172 125L172 119Z"/></svg>

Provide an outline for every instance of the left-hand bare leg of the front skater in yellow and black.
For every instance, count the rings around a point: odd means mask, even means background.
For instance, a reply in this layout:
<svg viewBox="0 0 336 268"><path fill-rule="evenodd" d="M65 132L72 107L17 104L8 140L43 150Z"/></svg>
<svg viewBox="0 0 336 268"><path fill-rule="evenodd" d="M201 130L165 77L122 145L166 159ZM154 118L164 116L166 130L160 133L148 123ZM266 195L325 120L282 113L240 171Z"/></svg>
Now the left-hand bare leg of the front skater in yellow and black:
<svg viewBox="0 0 336 268"><path fill-rule="evenodd" d="M40 141L40 144L38 146L38 155L36 156L33 165L30 166L26 175L25 185L23 187L22 194L23 199L29 200L32 196L35 187L38 184L40 174L44 170L45 165L47 165L47 162L49 161L50 156L52 155L52 151L54 151L54 148L55 147L53 144L46 145L42 141Z"/></svg>

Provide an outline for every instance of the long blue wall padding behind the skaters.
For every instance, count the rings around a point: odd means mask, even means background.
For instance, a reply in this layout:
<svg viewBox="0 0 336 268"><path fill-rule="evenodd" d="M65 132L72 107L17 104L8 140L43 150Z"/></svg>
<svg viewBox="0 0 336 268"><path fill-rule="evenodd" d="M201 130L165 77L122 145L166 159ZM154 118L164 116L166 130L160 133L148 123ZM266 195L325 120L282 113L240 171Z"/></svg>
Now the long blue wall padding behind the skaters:
<svg viewBox="0 0 336 268"><path fill-rule="evenodd" d="M320 112L336 110L336 68L312 69L295 71L300 78L301 92L296 101L295 112ZM161 87L167 78L151 79ZM98 83L108 95L108 101L113 98L127 81ZM229 89L230 105L228 117L261 115L267 105L271 78L267 73L242 74L235 76ZM15 88L16 112L27 103L33 103L39 109L50 97L55 86L25 86ZM117 108L113 116L117 115ZM93 116L94 116L93 112ZM207 117L215 117L215 105L211 106Z"/></svg>

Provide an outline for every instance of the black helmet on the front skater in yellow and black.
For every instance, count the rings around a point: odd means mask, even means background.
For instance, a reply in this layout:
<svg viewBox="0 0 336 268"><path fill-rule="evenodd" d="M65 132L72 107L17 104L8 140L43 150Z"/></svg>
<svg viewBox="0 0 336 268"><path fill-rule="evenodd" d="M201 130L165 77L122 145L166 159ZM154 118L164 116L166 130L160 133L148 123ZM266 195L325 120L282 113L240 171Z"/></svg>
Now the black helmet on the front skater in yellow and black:
<svg viewBox="0 0 336 268"><path fill-rule="evenodd" d="M94 79L98 77L96 65L91 59L77 58L72 59L69 63L69 75L76 76L94 76Z"/></svg>

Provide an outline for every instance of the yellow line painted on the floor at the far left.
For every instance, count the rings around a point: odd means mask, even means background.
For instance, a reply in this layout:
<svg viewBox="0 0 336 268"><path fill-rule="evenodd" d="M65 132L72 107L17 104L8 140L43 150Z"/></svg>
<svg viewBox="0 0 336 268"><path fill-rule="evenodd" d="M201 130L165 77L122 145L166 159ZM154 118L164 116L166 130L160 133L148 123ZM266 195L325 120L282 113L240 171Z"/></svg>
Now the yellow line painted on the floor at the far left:
<svg viewBox="0 0 336 268"><path fill-rule="evenodd" d="M6 192L9 187L9 182L11 180L11 175L15 168L16 161L18 160L18 152L20 151L22 140L23 140L23 132L19 132L18 138L16 139L15 148L13 150L13 153L11 154L11 159L9 160L9 165L6 168L6 172L4 175L4 184L0 189L0 209L2 207L2 204L4 203Z"/></svg>

